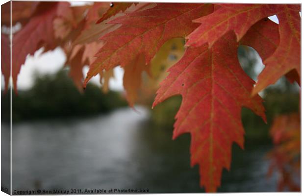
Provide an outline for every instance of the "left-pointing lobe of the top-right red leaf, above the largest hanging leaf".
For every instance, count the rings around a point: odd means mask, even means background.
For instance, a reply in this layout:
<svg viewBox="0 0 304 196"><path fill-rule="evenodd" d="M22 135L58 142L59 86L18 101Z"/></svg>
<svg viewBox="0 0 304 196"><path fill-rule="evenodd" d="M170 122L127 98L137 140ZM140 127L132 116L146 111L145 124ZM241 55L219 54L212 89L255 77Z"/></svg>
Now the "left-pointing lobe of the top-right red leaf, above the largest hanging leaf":
<svg viewBox="0 0 304 196"><path fill-rule="evenodd" d="M212 47L230 30L235 32L237 41L239 41L252 25L276 13L270 4L219 5L221 7L212 14L193 21L201 25L187 36L189 40L186 46L202 46L208 43L209 47Z"/></svg>

